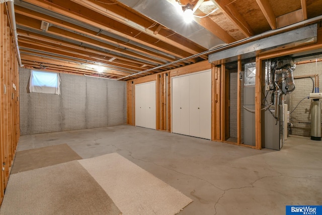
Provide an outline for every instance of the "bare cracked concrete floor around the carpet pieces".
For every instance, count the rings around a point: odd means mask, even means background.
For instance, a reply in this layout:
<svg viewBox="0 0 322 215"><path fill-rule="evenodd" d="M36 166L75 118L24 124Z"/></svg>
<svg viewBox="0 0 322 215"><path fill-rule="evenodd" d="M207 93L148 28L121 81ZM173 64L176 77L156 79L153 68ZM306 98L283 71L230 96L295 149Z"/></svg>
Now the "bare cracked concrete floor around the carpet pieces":
<svg viewBox="0 0 322 215"><path fill-rule="evenodd" d="M25 135L18 151L68 144L82 158L117 152L194 201L179 214L285 214L322 204L322 142L291 136L281 151L122 125Z"/></svg>

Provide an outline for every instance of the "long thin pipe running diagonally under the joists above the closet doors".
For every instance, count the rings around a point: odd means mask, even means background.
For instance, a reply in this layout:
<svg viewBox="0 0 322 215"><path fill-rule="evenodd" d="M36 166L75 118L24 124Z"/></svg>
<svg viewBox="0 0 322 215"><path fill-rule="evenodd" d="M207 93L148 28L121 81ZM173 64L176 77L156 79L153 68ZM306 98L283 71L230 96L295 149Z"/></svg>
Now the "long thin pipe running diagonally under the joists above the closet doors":
<svg viewBox="0 0 322 215"><path fill-rule="evenodd" d="M302 25L307 25L307 24L310 24L310 23L314 23L314 22L317 22L317 21L320 21L320 20L322 20L322 15L318 16L318 17L314 17L312 19L304 20L302 22L298 22L298 23L295 23L293 25L289 25L289 26L286 26L286 27L283 27L283 28L270 30L270 31L264 32L262 34L258 34L258 35L252 36L252 37L248 37L248 38L245 38L245 39L242 39L242 40L238 40L236 42L232 42L232 43L220 46L220 47L216 47L216 48L210 49L208 51L204 51L204 52L201 52L199 54L194 54L194 55L191 55L189 57L182 58L182 59L170 62L170 63L159 65L159 66L156 66L154 68L149 68L149 69L146 69L144 71L140 71L139 73L124 76L124 77L116 79L116 80L118 81L118 80L126 79L126 78L129 78L129 77L132 77L132 76L136 76L136 75L139 75L139 74L142 74L142 73L147 73L148 71L152 71L154 69L163 68L165 66L169 66L169 65L172 65L172 64L175 64L175 63L180 63L180 62L190 60L190 59L193 59L193 58L205 55L205 54L212 54L214 52L221 51L222 49L231 48L231 47L234 47L234 46L237 46L237 45L244 44L245 42L258 40L258 39L263 38L263 37L269 37L269 36L272 36L274 34L278 34L280 32L283 32L283 31L286 31L286 30L289 30L289 29L292 29L292 28L296 28L296 27L299 27L299 26L302 26Z"/></svg>

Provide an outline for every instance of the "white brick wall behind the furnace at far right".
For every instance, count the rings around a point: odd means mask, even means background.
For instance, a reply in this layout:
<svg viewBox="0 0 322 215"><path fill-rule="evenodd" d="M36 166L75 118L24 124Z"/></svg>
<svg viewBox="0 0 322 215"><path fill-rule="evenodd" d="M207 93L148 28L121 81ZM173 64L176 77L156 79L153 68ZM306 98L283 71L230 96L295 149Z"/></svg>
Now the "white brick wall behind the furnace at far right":
<svg viewBox="0 0 322 215"><path fill-rule="evenodd" d="M306 64L296 65L294 76L303 75L319 75L321 81L322 75L322 62L312 62ZM314 78L313 78L314 80ZM295 79L295 90L289 96L289 110L292 111L298 102L304 97L309 96L312 92L311 79ZM290 122L293 124L292 134L301 136L310 136L311 132L311 111L310 111L311 99L304 99L297 108L290 115Z"/></svg>

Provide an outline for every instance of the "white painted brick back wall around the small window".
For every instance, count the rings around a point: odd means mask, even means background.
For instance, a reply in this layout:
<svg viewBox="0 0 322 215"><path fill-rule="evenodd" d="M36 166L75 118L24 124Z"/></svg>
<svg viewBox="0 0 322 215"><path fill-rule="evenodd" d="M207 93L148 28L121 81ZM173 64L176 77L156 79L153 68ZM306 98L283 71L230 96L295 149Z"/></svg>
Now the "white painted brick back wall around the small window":
<svg viewBox="0 0 322 215"><path fill-rule="evenodd" d="M30 70L19 73L22 135L126 123L126 82L60 74L58 96L27 93Z"/></svg>

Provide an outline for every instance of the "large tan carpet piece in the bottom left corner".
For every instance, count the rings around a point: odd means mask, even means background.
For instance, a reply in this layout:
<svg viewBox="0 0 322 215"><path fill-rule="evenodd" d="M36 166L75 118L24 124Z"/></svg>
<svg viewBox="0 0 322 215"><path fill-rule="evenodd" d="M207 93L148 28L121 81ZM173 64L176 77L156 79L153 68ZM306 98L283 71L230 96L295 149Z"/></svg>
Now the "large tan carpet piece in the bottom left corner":
<svg viewBox="0 0 322 215"><path fill-rule="evenodd" d="M88 171L71 161L12 174L0 214L122 213Z"/></svg>

